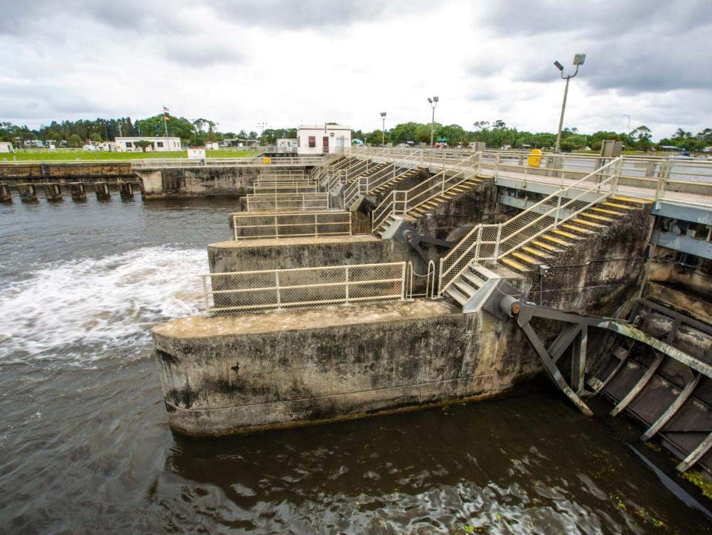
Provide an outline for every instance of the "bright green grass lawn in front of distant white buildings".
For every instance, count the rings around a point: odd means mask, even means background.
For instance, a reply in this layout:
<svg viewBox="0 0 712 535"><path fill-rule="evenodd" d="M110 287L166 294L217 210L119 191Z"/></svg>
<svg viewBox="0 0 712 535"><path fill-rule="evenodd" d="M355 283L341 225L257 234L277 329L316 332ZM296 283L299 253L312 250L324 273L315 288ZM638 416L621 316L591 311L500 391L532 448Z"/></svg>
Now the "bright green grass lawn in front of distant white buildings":
<svg viewBox="0 0 712 535"><path fill-rule="evenodd" d="M257 156L259 153L255 151L207 151L207 158L248 158ZM98 160L145 160L147 158L187 158L186 151L175 152L150 152L150 153L90 153L82 151L72 151L71 149L58 149L56 151L32 151L32 152L15 152L1 153L0 163L2 162L26 162L26 161L98 161Z"/></svg>

